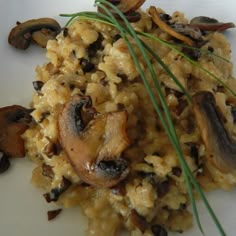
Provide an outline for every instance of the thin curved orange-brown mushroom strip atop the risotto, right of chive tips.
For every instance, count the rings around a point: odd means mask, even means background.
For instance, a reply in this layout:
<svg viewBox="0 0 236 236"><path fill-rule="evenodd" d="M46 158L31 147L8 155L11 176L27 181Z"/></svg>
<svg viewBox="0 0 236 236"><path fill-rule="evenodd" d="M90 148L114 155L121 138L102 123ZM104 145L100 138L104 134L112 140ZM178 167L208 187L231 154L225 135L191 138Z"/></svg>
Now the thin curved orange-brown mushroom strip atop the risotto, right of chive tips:
<svg viewBox="0 0 236 236"><path fill-rule="evenodd" d="M183 41L184 43L186 43L189 46L193 46L194 42L193 40L191 40L190 38L188 38L187 36L180 34L178 32L176 32L171 26L169 26L166 22L164 22L158 12L157 9L153 6L151 6L149 8L149 14L152 17L152 20L154 21L154 23L159 26L159 28L163 31L165 31L166 33L168 33L169 35L171 35L172 37L179 39L181 41Z"/></svg>

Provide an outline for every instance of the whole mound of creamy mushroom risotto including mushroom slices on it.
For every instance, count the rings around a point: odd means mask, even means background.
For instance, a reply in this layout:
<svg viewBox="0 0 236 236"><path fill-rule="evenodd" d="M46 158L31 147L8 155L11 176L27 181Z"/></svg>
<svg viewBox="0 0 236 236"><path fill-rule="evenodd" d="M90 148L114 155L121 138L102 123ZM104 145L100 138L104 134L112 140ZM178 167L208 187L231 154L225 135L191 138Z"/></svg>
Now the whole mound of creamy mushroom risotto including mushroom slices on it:
<svg viewBox="0 0 236 236"><path fill-rule="evenodd" d="M219 28L193 31L180 12L151 7L136 13L133 29L175 46L140 36L192 98L150 55L190 170L204 190L231 189L236 81L229 43ZM159 101L143 55L130 42ZM78 18L48 42L46 55L49 62L37 67L33 83L34 123L23 135L26 155L37 164L32 182L46 200L80 206L87 235L189 229L183 170L120 32Z"/></svg>

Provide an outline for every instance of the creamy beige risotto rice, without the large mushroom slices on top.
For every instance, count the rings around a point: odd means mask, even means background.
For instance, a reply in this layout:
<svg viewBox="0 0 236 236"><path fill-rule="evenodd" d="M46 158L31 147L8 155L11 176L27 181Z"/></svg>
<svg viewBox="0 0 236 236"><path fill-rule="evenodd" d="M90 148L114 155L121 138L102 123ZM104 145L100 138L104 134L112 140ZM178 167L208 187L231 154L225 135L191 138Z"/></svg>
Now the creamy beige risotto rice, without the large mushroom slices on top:
<svg viewBox="0 0 236 236"><path fill-rule="evenodd" d="M173 13L172 20L188 22L180 12ZM153 26L151 17L145 12L141 12L141 20L132 25L138 31L173 41L167 33ZM23 136L27 156L37 164L32 183L51 191L60 187L63 178L68 179L71 186L59 196L57 203L65 208L81 207L89 220L87 235L116 235L123 228L135 236L153 235L157 226L173 232L186 231L193 222L178 158L125 41L118 36L119 33L109 25L75 20L67 34L62 32L56 40L48 42L46 56L49 62L36 68L37 80L44 85L32 98L35 125ZM224 35L214 32L205 37L208 42L203 48L214 48L217 55L230 60L230 45ZM176 51L156 41L143 40L191 95L202 90L214 93L224 114L225 127L235 135L232 107L227 103L231 94ZM152 84L141 53L135 44L133 48ZM163 68L155 61L152 63L161 81L184 157L199 184L206 191L230 190L236 183L235 172L223 173L206 159L205 145L191 105ZM198 63L236 91L232 63L203 53ZM78 94L89 96L100 114L120 110L127 113L126 132L130 145L122 156L129 161L130 173L112 188L85 184L60 145L58 117L65 104ZM52 176L44 173L45 166L51 168Z"/></svg>

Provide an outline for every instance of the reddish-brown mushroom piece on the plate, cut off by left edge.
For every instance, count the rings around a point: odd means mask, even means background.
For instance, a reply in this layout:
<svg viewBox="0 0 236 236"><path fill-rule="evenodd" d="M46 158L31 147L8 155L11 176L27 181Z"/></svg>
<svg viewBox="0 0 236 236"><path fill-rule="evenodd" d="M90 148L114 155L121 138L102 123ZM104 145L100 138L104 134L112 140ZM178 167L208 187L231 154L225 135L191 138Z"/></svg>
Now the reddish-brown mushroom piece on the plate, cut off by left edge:
<svg viewBox="0 0 236 236"><path fill-rule="evenodd" d="M0 108L0 151L9 157L24 157L21 135L28 128L31 110L13 105Z"/></svg>

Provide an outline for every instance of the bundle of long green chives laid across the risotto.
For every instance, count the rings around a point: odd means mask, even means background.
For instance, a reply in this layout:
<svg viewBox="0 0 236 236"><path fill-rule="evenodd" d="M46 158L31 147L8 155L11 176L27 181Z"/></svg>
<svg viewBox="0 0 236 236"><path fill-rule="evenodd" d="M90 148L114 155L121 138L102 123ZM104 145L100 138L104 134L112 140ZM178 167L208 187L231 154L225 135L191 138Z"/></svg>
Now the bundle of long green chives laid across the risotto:
<svg viewBox="0 0 236 236"><path fill-rule="evenodd" d="M194 194L193 194L193 191L192 191L192 185L195 188L195 190L197 191L197 193L199 194L199 196L201 197L201 199L203 200L203 203L205 204L206 209L208 210L208 212L209 212L210 216L212 217L213 221L215 222L216 227L218 228L220 234L223 235L223 236L226 235L223 228L222 228L222 226L221 226L221 224L219 223L214 211L212 210L210 204L208 203L202 189L200 188L199 184L197 183L195 177L193 176L193 173L189 169L189 167L188 167L188 165L187 165L187 163L186 163L186 161L183 157L181 147L180 147L180 144L179 144L179 140L178 140L178 137L177 137L177 134L176 134L176 131L175 131L175 127L174 127L173 121L171 119L171 116L170 116L170 113L169 113L169 110L168 110L168 106L167 106L166 101L165 101L165 97L162 93L160 83L157 80L155 71L153 69L153 66L150 62L150 59L149 59L147 53L149 53L163 67L163 69L169 74L169 76L181 88L181 90L184 91L187 99L191 100L191 97L188 95L187 91L184 89L184 87L181 85L181 83L179 83L177 78L170 71L168 66L161 60L161 58L158 57L158 55L156 55L148 47L148 45L146 45L138 37L138 35L145 36L145 37L148 37L150 39L154 39L154 40L162 43L163 45L166 45L167 47L171 48L172 50L176 51L179 55L183 56L191 64L193 64L194 66L198 67L200 70L204 71L206 74L208 74L211 77L213 77L214 79L216 79L220 84L222 84L225 88L227 88L231 93L233 93L234 95L236 95L236 94L234 93L234 91L232 91L230 88L228 88L228 86L223 81L221 81L217 76L215 76L213 73L211 73L208 70L206 70L205 68L203 68L199 63L191 60L188 56L186 56L184 53L179 51L176 47L178 45L174 45L170 42L161 40L157 37L154 37L151 34L147 34L147 33L143 33L143 32L135 32L134 29L132 28L132 26L130 25L130 23L127 21L126 17L123 15L122 12L119 11L119 9L117 7L115 7L114 5L112 5L111 3L109 3L106 0L96 0L95 3L97 5L99 5L99 7L101 7L104 10L106 15L103 14L103 13L96 13L96 12L82 12L82 13L76 13L76 14L62 14L61 16L71 17L71 19L68 21L67 25L69 25L74 19L79 17L80 19L96 20L96 21L99 21L101 23L109 24L111 26L114 26L115 28L117 28L120 31L120 34L123 37L123 39L125 40L126 45L127 45L128 49L130 51L130 55L132 56L134 64L136 65L136 67L137 67L137 69L140 73L140 76L143 80L144 86L145 86L145 88L148 92L148 95L149 95L150 100L151 100L151 102L154 106L154 109L156 110L156 112L159 116L159 119L160 119L167 135L169 136L169 139L170 139L170 141L171 141L171 143L172 143L172 145L173 145L173 147L176 151L176 154L179 158L179 162L180 162L180 165L181 165L181 168L182 168L182 171L183 171L183 175L184 175L184 179L185 179L185 182L186 182L186 187L187 187L187 190L188 190L188 193L189 193L189 198L190 198L190 201L191 201L191 204L192 204L192 207L193 207L193 213L194 213L194 216L196 218L196 221L197 221L197 224L198 224L198 227L199 227L201 233L204 235L204 231L202 229L200 218L199 218L199 215L198 215L198 210L197 210L197 207L196 207L195 197L194 197ZM121 18L121 20L123 21L125 26L123 24L121 25L120 22L115 19L115 17L111 14L110 10L106 7L106 5L109 6L110 9L112 8L114 10L114 12L116 12L119 15L119 17ZM159 107L159 105L156 101L155 95L152 91L152 88L150 87L150 85L149 85L149 83L146 79L145 73L142 70L142 67L141 67L141 65L138 61L138 58L137 58L137 56L134 52L133 46L132 46L131 42L129 41L128 35L131 36L134 39L136 45L138 46L140 52L143 55L145 63L147 64L148 70L151 74L151 77L152 77L153 82L155 84L155 87L157 89L157 92L158 92L157 94L158 94L159 100L161 102L162 109L164 110L165 117L163 116L161 108ZM191 47L191 48L195 49L194 47ZM213 53L212 53L212 55L217 56ZM224 59L220 56L218 56L218 58ZM225 59L225 61L227 61L227 60Z"/></svg>

